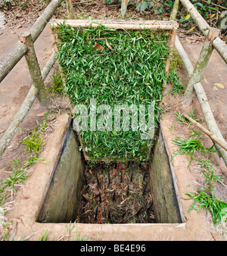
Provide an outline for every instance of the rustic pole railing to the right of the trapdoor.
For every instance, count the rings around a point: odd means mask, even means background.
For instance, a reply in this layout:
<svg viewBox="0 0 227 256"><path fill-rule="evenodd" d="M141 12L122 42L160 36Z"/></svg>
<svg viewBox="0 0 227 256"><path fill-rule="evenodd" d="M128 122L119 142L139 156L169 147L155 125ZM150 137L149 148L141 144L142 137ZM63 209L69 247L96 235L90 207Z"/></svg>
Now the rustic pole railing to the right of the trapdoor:
<svg viewBox="0 0 227 256"><path fill-rule="evenodd" d="M195 67L193 67L193 65L191 64L190 58L188 58L188 55L185 52L182 43L179 41L178 36L176 36L175 46L177 51L179 52L179 56L182 58L182 61L185 64L185 68L188 72L189 77L188 86L185 91L182 103L185 106L190 105L193 93L196 93L197 99L201 105L201 110L203 111L204 118L207 123L207 127L210 130L210 133L212 133L213 136L216 136L217 138L216 141L213 140L213 143L216 146L219 156L222 157L225 165L227 166L227 151L225 150L227 143L225 142L225 139L223 138L222 133L220 132L219 127L216 124L216 120L213 117L213 112L210 108L209 101L207 100L206 92L204 91L204 87L201 84L201 78L204 70L207 67L207 63L210 60L213 48L216 49L216 51L227 64L227 45L225 45L225 42L223 42L219 38L219 31L211 28L208 25L206 20L204 20L201 14L198 13L197 9L194 8L194 5L192 5L189 0L175 0L170 20L176 20L176 15L178 13L180 3L182 3L182 5L184 5L185 8L188 10L189 14L191 14L191 17L194 19L195 23L197 23L197 26L204 34L204 36L207 36L204 42L204 47L201 50L201 55L199 56Z"/></svg>

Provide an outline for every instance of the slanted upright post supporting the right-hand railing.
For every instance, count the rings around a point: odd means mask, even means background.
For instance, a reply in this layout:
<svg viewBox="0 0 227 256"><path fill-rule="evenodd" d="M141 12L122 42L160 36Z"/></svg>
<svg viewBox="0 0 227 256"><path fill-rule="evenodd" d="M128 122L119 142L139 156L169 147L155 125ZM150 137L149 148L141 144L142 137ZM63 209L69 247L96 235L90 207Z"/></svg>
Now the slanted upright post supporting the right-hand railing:
<svg viewBox="0 0 227 256"><path fill-rule="evenodd" d="M201 55L195 64L193 73L191 74L190 80L188 82L187 89L185 90L185 95L183 98L183 106L188 107L191 105L191 101L193 98L194 85L199 83L204 75L204 71L207 67L208 61L210 60L210 56L213 52L212 42L219 35L219 30L215 28L210 28L207 39L204 42L204 46L201 50Z"/></svg>

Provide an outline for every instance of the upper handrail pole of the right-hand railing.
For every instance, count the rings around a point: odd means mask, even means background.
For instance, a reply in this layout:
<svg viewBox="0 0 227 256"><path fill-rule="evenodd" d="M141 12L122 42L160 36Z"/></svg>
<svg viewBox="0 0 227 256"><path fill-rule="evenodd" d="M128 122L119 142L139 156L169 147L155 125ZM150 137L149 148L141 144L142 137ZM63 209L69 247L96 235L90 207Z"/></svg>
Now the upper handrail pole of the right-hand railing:
<svg viewBox="0 0 227 256"><path fill-rule="evenodd" d="M195 23L197 23L197 26L201 30L201 32L204 34L204 36L208 35L210 26L204 20L204 18L199 14L196 8L194 8L194 5L191 4L188 0L180 0L182 2L182 5L185 6L185 8L188 10L189 14L191 14L191 17L194 19ZM219 55L222 57L222 59L227 64L227 45L225 44L222 39L217 37L215 40L213 40L213 47L216 49L217 52L219 52Z"/></svg>

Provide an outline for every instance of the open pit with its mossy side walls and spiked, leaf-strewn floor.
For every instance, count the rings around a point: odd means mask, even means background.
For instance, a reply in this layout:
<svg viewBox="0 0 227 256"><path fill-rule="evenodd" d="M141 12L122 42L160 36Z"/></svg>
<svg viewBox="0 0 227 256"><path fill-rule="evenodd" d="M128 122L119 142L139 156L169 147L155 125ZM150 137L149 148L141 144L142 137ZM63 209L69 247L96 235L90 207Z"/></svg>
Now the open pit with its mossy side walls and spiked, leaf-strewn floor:
<svg viewBox="0 0 227 256"><path fill-rule="evenodd" d="M40 206L39 223L182 223L161 132L151 160L84 161L72 127Z"/></svg>

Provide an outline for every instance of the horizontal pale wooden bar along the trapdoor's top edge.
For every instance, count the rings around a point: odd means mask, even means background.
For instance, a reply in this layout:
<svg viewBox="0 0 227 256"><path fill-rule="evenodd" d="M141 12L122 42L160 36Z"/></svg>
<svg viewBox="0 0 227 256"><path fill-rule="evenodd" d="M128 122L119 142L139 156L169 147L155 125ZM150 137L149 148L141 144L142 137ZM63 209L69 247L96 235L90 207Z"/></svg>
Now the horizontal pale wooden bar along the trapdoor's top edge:
<svg viewBox="0 0 227 256"><path fill-rule="evenodd" d="M116 30L174 30L178 23L174 20L51 20L52 27L59 24L71 27L98 27L100 24Z"/></svg>

